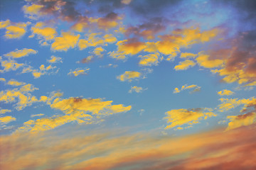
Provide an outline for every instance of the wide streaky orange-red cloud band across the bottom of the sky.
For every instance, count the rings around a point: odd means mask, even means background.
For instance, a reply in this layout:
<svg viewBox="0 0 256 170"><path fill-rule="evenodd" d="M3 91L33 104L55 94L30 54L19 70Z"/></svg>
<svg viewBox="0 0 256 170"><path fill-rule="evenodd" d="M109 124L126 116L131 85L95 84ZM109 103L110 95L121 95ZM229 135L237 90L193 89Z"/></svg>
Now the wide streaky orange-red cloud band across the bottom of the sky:
<svg viewBox="0 0 256 170"><path fill-rule="evenodd" d="M256 167L255 125L182 137L159 137L142 132L127 135L122 130L118 133L106 129L88 132L77 128L68 129L69 133L63 135L65 131L2 135L1 168L42 169L47 166L48 169L117 170L136 166L136 169L153 170Z"/></svg>

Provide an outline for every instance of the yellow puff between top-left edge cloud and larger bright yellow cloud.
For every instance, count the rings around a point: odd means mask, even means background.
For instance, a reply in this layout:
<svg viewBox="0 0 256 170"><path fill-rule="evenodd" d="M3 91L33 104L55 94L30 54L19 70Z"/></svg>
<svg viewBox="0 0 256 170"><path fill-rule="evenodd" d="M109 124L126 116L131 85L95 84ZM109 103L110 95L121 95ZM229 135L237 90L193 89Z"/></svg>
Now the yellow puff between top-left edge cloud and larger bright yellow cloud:
<svg viewBox="0 0 256 170"><path fill-rule="evenodd" d="M55 28L46 27L43 22L36 23L36 26L31 28L31 32L32 35L38 35L38 37L43 38L43 40L53 40L58 34Z"/></svg>

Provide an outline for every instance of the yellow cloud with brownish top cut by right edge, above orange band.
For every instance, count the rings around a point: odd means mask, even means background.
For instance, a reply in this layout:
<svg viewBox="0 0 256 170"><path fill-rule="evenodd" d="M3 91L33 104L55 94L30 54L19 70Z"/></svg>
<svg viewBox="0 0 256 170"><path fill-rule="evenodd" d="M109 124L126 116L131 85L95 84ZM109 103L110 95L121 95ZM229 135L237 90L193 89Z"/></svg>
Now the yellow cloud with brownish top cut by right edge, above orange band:
<svg viewBox="0 0 256 170"><path fill-rule="evenodd" d="M227 130L239 128L241 126L252 125L256 122L256 113L245 113L244 115L229 115L227 118L230 120Z"/></svg>

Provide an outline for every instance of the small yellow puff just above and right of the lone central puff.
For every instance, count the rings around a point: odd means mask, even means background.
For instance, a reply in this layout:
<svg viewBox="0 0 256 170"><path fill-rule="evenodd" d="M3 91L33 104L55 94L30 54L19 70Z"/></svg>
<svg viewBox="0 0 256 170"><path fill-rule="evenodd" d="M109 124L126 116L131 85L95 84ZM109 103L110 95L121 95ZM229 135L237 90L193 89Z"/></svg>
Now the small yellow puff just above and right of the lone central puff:
<svg viewBox="0 0 256 170"><path fill-rule="evenodd" d="M163 59L163 57L159 57L159 53L155 54L149 54L149 55L140 55L139 57L142 58L142 60L139 61L139 65L141 66L152 66L152 65L158 65L159 61Z"/></svg>

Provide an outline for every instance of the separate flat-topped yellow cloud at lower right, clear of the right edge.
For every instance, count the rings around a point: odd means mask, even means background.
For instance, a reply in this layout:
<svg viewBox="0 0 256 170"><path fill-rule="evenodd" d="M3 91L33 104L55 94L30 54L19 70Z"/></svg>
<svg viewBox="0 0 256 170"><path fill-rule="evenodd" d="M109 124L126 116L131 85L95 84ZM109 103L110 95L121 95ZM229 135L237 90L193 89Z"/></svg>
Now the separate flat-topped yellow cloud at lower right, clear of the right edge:
<svg viewBox="0 0 256 170"><path fill-rule="evenodd" d="M209 108L191 108L191 109L174 109L166 112L167 123L171 125L166 125L166 129L174 128L181 125L193 125L199 123L199 120L207 119L208 117L216 116Z"/></svg>

